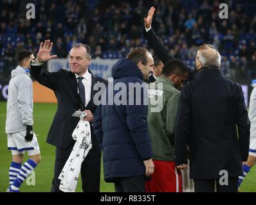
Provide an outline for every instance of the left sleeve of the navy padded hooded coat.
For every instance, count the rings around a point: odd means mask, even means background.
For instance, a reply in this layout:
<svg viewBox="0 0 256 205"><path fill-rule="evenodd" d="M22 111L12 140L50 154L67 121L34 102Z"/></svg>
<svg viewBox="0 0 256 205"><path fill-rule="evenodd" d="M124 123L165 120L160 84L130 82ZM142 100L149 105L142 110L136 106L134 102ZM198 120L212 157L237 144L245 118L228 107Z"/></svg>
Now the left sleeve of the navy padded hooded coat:
<svg viewBox="0 0 256 205"><path fill-rule="evenodd" d="M102 131L102 105L100 104L96 112L94 114L94 120L93 120L93 132L96 135L96 138L98 140L98 143L100 145L100 149L103 149L102 146L102 139L103 139L103 131Z"/></svg>

